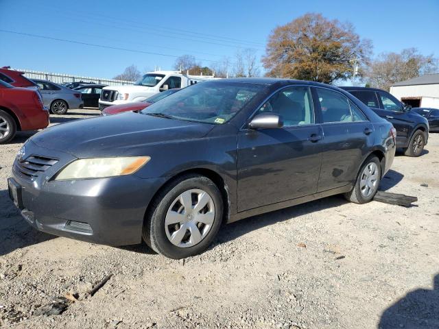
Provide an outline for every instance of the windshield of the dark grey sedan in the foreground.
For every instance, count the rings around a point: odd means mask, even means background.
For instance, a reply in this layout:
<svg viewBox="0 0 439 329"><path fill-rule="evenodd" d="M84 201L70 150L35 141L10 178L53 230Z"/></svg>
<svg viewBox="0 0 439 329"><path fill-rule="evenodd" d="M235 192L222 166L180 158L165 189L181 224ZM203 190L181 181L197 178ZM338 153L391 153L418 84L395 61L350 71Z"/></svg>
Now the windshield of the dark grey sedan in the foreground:
<svg viewBox="0 0 439 329"><path fill-rule="evenodd" d="M263 88L259 84L202 82L169 95L141 113L169 119L222 124L232 119Z"/></svg>

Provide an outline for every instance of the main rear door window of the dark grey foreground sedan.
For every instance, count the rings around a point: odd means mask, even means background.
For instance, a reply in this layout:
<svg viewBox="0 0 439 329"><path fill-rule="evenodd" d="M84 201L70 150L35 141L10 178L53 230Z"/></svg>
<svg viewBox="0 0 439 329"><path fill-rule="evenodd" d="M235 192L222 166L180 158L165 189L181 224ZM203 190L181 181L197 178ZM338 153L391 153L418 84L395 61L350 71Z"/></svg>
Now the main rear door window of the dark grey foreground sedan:
<svg viewBox="0 0 439 329"><path fill-rule="evenodd" d="M348 98L333 90L316 88L324 123L352 122Z"/></svg>

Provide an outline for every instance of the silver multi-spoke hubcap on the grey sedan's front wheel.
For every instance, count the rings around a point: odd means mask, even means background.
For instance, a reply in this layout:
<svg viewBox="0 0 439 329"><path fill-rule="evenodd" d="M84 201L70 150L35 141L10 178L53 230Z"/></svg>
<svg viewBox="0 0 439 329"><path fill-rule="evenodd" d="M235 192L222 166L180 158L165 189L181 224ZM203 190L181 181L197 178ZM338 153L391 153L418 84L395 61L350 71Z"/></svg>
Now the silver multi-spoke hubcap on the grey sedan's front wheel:
<svg viewBox="0 0 439 329"><path fill-rule="evenodd" d="M195 188L185 191L167 210L167 239L178 247L192 247L206 237L214 220L215 204L209 193Z"/></svg>

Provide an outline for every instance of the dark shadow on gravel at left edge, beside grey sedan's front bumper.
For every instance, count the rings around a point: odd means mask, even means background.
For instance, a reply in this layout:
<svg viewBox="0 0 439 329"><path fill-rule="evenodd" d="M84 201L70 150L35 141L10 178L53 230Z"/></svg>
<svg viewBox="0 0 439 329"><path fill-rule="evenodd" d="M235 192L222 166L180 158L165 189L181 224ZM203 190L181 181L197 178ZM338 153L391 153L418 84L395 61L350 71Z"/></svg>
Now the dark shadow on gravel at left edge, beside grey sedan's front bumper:
<svg viewBox="0 0 439 329"><path fill-rule="evenodd" d="M0 191L0 256L56 238L32 228L21 217L8 194L7 190Z"/></svg>

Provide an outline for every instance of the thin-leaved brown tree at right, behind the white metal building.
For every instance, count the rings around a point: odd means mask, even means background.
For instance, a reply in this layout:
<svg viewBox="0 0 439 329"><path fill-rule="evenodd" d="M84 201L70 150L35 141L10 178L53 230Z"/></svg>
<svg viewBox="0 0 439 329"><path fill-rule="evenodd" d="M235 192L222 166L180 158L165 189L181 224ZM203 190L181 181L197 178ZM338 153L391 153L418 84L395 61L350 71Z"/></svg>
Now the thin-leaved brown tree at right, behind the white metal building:
<svg viewBox="0 0 439 329"><path fill-rule="evenodd" d="M389 90L396 82L409 80L438 69L438 59L423 56L416 48L403 49L401 53L381 53L366 68L366 82L370 86Z"/></svg>

